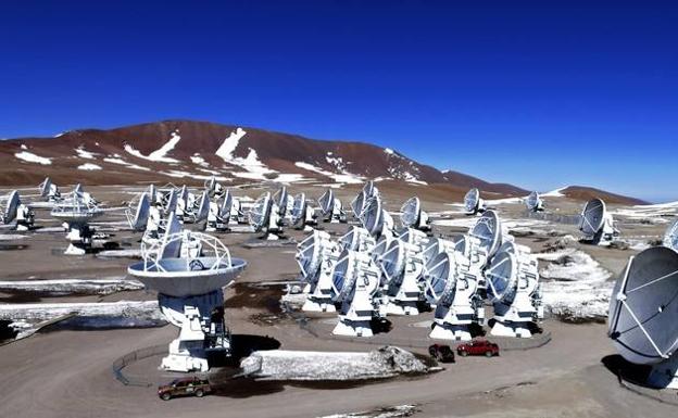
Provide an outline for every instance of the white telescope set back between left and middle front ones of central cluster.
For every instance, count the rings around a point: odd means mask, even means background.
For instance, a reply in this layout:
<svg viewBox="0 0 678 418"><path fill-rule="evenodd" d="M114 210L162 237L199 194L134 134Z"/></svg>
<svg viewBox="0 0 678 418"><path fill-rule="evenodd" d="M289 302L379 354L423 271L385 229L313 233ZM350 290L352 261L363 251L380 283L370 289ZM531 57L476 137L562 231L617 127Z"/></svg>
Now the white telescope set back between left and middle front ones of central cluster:
<svg viewBox="0 0 678 418"><path fill-rule="evenodd" d="M387 314L418 315L418 279L424 271L424 246L426 233L416 229L405 229L392 240L377 263L386 278L385 307Z"/></svg>

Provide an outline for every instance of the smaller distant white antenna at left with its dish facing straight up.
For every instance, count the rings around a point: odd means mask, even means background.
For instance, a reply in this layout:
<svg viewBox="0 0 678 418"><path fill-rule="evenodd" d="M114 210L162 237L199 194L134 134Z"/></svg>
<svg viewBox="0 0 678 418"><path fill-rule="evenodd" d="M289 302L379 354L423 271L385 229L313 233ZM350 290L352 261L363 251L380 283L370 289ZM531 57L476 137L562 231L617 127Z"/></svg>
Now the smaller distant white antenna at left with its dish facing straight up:
<svg viewBox="0 0 678 418"><path fill-rule="evenodd" d="M83 255L91 248L93 231L88 223L103 214L98 202L80 185L54 204L50 215L66 226L66 239L71 241L65 254Z"/></svg>

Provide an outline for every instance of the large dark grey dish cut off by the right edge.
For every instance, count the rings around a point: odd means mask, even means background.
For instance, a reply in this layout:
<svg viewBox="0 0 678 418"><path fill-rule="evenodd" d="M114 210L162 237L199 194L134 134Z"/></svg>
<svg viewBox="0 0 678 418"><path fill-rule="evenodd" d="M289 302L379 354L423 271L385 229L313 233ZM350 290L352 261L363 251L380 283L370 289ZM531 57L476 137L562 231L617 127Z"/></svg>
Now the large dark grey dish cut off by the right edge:
<svg viewBox="0 0 678 418"><path fill-rule="evenodd" d="M678 253L631 256L610 300L607 335L628 362L651 365L648 384L678 389Z"/></svg>

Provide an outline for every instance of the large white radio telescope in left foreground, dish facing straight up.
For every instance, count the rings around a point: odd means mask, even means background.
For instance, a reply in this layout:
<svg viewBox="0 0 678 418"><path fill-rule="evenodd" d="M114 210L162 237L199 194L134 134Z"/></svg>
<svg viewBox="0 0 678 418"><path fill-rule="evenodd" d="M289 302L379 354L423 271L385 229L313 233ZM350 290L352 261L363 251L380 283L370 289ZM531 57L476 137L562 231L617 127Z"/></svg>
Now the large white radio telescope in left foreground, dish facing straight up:
<svg viewBox="0 0 678 418"><path fill-rule="evenodd" d="M209 249L209 255L165 256L168 248L194 241ZM170 354L162 359L161 368L206 371L210 354L230 355L222 289L235 280L247 263L233 258L216 238L188 230L165 236L150 248L142 244L142 254L143 261L129 266L127 273L147 289L158 291L161 312L180 329L178 338L170 343Z"/></svg>

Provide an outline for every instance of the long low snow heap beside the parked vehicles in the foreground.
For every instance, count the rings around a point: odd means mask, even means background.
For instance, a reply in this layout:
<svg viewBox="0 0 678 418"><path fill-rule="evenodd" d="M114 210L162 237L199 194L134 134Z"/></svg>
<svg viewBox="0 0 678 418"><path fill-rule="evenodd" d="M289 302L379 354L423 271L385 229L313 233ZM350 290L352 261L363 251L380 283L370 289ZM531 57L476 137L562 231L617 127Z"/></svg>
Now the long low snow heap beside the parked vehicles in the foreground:
<svg viewBox="0 0 678 418"><path fill-rule="evenodd" d="M367 353L272 350L240 363L246 375L269 380L362 380L426 372L412 353L385 346Z"/></svg>

